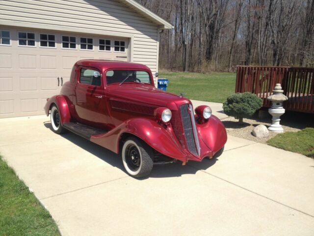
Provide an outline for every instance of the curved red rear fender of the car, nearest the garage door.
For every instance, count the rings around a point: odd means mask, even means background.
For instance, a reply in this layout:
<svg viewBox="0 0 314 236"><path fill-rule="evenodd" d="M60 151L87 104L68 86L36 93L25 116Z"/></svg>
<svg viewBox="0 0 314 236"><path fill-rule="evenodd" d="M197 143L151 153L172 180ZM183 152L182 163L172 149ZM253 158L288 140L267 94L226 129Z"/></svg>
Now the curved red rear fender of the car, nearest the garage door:
<svg viewBox="0 0 314 236"><path fill-rule="evenodd" d="M54 95L49 98L44 107L47 117L49 116L49 111L51 110L52 104L56 104L59 109L61 124L65 122L70 122L71 114L68 105L69 103L67 102L67 97L63 95Z"/></svg>

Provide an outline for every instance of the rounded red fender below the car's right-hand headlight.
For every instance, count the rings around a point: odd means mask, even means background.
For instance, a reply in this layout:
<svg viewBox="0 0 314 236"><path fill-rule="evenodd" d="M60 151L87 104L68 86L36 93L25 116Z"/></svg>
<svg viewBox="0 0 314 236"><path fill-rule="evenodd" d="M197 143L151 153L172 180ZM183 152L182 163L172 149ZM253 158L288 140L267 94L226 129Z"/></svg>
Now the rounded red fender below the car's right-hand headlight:
<svg viewBox="0 0 314 236"><path fill-rule="evenodd" d="M227 132L224 124L219 118L211 115L209 120L203 124L196 122L196 128L199 137L203 140L206 146L211 149L214 155L227 142Z"/></svg>

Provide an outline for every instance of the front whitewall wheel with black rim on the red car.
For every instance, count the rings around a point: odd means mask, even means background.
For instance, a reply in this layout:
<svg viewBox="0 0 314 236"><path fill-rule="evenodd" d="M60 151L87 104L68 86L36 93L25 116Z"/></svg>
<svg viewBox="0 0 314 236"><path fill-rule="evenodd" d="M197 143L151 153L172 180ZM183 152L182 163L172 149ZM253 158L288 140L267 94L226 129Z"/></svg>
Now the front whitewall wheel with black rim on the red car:
<svg viewBox="0 0 314 236"><path fill-rule="evenodd" d="M148 176L154 165L153 150L137 138L129 138L123 144L122 161L124 168L132 177Z"/></svg>

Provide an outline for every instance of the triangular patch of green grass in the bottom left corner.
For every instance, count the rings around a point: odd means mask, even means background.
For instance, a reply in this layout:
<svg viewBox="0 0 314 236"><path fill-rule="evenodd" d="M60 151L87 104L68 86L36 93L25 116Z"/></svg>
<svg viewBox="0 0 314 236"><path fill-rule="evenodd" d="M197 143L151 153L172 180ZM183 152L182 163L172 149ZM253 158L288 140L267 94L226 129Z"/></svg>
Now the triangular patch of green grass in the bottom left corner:
<svg viewBox="0 0 314 236"><path fill-rule="evenodd" d="M0 236L60 236L50 213L0 157Z"/></svg>

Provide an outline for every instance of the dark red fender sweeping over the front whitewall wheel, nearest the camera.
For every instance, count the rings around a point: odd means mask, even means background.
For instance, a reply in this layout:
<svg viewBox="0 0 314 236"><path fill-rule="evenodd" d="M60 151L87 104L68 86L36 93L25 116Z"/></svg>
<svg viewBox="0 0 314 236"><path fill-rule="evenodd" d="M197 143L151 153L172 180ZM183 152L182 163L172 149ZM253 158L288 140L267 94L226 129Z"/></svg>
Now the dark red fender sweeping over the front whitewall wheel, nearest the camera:
<svg viewBox="0 0 314 236"><path fill-rule="evenodd" d="M119 153L119 141L125 133L135 135L151 148L166 156L186 161L186 155L174 140L171 131L147 118L126 120L104 135L92 136L90 141Z"/></svg>

